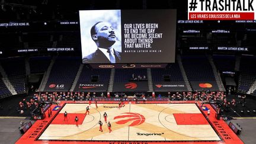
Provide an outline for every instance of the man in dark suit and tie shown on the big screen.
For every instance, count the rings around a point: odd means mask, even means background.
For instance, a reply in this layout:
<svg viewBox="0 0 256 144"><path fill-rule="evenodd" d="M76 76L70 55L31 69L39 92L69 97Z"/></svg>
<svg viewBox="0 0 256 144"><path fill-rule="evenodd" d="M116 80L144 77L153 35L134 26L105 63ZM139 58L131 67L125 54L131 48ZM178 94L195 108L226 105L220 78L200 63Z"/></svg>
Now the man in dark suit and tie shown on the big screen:
<svg viewBox="0 0 256 144"><path fill-rule="evenodd" d="M83 63L120 63L121 52L114 49L116 33L106 21L98 21L91 27L91 38L98 49L83 57Z"/></svg>

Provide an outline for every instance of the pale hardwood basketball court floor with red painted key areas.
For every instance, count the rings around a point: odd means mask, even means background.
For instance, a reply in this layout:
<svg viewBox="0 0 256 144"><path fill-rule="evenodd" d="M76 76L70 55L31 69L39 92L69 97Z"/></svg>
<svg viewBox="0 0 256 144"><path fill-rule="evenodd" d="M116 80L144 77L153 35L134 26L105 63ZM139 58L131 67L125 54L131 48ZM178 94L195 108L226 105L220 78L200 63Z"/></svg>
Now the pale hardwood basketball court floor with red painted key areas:
<svg viewBox="0 0 256 144"><path fill-rule="evenodd" d="M55 120L38 140L146 140L146 141L218 141L213 130L196 104L91 104L89 115L84 115L88 104L65 104ZM63 113L68 112L68 121ZM109 133L103 114L112 125ZM75 126L79 116L79 127ZM103 132L98 121L103 121Z"/></svg>

